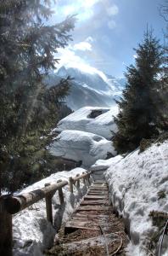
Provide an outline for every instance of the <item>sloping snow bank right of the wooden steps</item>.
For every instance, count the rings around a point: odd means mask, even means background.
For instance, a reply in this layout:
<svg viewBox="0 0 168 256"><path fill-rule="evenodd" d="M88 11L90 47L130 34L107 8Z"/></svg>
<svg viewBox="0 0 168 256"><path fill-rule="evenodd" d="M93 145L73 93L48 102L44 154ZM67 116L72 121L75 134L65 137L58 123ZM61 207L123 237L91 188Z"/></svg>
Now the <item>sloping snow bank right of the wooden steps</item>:
<svg viewBox="0 0 168 256"><path fill-rule="evenodd" d="M153 145L141 154L136 150L125 158L118 155L98 160L92 168L98 171L98 166L109 166L105 177L110 198L130 229L128 255L147 256L143 247L156 230L148 214L153 210L168 212L168 142ZM159 191L164 191L166 197L159 199ZM166 236L162 256L168 255L167 244Z"/></svg>

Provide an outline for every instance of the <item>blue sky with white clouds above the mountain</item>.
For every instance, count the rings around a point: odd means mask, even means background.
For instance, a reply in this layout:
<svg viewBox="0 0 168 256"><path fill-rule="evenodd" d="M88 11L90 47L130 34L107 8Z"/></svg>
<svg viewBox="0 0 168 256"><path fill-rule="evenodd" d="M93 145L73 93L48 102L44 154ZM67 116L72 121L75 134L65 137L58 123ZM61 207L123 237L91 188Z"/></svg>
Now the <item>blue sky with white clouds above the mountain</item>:
<svg viewBox="0 0 168 256"><path fill-rule="evenodd" d="M60 66L96 68L123 76L134 62L135 51L148 27L163 41L165 20L159 7L164 0L57 0L53 21L77 14L73 42L59 50Z"/></svg>

